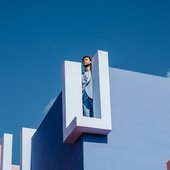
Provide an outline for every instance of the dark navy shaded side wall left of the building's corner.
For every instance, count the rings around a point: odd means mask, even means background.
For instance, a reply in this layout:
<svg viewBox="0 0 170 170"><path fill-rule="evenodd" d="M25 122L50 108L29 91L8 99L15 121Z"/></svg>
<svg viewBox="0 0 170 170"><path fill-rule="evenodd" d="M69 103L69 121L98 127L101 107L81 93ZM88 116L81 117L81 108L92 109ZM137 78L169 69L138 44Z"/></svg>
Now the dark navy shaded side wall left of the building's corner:
<svg viewBox="0 0 170 170"><path fill-rule="evenodd" d="M83 170L83 142L63 143L62 93L32 139L31 170Z"/></svg>

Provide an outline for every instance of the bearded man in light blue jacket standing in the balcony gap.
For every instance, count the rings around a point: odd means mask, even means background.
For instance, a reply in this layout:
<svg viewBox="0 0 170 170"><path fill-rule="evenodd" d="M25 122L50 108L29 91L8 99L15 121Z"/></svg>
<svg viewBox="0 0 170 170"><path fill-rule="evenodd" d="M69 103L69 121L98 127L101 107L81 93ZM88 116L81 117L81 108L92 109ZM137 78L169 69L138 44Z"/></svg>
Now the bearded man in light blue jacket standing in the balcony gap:
<svg viewBox="0 0 170 170"><path fill-rule="evenodd" d="M82 58L84 72L82 73L82 101L83 116L94 117L93 114L93 94L92 94L92 57Z"/></svg>

